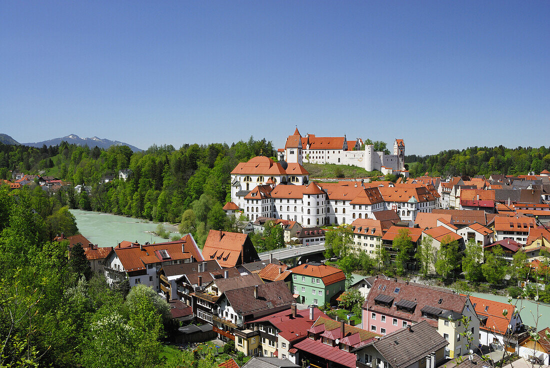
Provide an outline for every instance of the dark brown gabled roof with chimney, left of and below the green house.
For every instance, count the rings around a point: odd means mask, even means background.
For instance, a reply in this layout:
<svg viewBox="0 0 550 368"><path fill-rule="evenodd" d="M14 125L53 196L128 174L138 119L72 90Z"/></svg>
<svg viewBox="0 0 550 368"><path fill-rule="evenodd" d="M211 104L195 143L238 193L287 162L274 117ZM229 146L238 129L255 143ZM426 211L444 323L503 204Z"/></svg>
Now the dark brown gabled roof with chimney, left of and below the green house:
<svg viewBox="0 0 550 368"><path fill-rule="evenodd" d="M253 275L260 278L256 274ZM254 297L254 290L256 287L258 289L257 298ZM262 283L260 281L259 285L239 287L225 291L224 295L226 295L232 308L243 316L270 309L288 308L295 301L292 293L287 287L287 283L284 281L270 283Z"/></svg>

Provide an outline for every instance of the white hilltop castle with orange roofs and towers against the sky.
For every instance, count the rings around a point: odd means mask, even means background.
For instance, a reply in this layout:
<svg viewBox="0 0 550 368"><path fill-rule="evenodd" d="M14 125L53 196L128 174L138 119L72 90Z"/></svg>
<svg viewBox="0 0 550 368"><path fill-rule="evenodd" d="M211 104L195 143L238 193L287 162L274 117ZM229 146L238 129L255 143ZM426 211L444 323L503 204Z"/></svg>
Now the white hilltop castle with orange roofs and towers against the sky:
<svg viewBox="0 0 550 368"><path fill-rule="evenodd" d="M376 152L372 144L366 144L361 150L363 141L357 138L355 141L346 140L343 137L316 137L307 134L300 135L298 128L292 136L287 138L284 146L284 159L288 163L303 164L340 164L354 165L368 171L379 170L383 174L399 171L405 174L405 143L403 140L395 140L393 143L393 155ZM283 155L281 155L283 158Z"/></svg>

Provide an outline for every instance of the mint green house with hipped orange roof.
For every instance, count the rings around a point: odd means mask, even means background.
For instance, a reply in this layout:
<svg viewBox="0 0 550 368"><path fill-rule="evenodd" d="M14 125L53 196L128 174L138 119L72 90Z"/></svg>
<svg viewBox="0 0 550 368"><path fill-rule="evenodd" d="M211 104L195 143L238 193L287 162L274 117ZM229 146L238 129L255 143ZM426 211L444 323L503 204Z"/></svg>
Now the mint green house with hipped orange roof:
<svg viewBox="0 0 550 368"><path fill-rule="evenodd" d="M344 271L308 262L292 269L292 291L299 303L325 305L345 289Z"/></svg>

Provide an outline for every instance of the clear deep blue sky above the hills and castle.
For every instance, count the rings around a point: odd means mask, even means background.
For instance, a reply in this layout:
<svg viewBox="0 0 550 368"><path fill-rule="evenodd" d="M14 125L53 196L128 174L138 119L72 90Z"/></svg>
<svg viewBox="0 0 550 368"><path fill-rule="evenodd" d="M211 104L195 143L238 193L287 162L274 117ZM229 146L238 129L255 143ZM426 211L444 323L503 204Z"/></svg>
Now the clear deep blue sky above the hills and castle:
<svg viewBox="0 0 550 368"><path fill-rule="evenodd" d="M0 132L548 146L548 1L3 1Z"/></svg>

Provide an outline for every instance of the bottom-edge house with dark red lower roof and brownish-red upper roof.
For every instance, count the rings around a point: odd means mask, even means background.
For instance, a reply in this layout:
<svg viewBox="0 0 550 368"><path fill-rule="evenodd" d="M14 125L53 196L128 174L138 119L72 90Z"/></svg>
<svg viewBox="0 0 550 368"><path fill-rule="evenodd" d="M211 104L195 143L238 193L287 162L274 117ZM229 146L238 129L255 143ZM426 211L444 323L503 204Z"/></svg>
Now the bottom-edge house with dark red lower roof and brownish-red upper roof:
<svg viewBox="0 0 550 368"><path fill-rule="evenodd" d="M309 361L311 366L331 368L355 368L355 350L380 338L376 332L346 325L319 317L307 330L307 338L294 344L289 353L299 361ZM291 358L292 359L292 358Z"/></svg>

